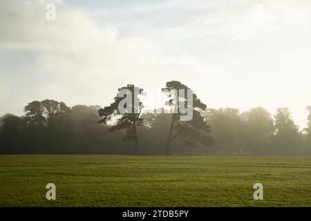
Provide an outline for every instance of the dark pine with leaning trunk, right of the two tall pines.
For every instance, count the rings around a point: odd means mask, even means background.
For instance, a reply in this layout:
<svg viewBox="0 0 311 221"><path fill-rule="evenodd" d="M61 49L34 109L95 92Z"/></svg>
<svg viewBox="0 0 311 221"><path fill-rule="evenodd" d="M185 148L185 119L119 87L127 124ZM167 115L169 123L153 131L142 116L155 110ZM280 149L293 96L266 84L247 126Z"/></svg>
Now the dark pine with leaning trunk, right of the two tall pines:
<svg viewBox="0 0 311 221"><path fill-rule="evenodd" d="M180 89L185 90L185 97L180 96ZM167 82L166 88L163 88L163 91L166 93L168 92L167 95L170 97L167 104L169 104L169 106L176 106L176 104L173 104L173 100L177 100L178 104L180 104L180 102L183 102L182 104L185 104L185 106L189 107L189 97L187 97L188 89L190 89L188 88L188 86L186 86L185 84L181 84L179 81ZM176 91L177 95L172 95L170 93L171 91ZM206 108L207 106L203 104L200 99L198 99L195 93L193 93L193 117L189 121L181 121L180 117L183 114L180 113L180 109L178 106L177 113L173 113L171 117L171 126L169 128L169 134L167 137L166 155L170 155L171 142L176 137L180 137L180 139L182 140L182 144L189 147L196 147L198 142L205 146L214 145L214 138L209 135L209 133L211 133L211 128L207 125L204 117L202 117L201 115L201 112L205 111ZM175 131L174 135L173 131Z"/></svg>

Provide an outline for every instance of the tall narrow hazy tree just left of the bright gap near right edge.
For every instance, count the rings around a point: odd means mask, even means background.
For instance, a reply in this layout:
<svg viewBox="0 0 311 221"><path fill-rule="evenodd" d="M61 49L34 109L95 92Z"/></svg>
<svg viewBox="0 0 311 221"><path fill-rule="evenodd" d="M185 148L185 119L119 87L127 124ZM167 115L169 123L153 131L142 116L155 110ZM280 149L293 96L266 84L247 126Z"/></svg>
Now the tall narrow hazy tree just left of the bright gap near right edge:
<svg viewBox="0 0 311 221"><path fill-rule="evenodd" d="M277 108L274 116L274 145L276 155L297 155L299 153L299 128L294 124L288 108Z"/></svg>

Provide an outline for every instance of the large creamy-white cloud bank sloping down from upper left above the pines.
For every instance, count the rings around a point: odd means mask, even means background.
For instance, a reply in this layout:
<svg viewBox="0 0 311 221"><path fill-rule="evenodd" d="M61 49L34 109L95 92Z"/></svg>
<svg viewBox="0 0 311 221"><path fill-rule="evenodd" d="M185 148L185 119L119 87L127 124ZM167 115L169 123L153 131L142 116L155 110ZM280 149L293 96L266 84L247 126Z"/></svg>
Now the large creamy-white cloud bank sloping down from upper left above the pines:
<svg viewBox="0 0 311 221"><path fill-rule="evenodd" d="M43 86L25 85L38 94L29 99L46 96L69 104L105 105L124 84L142 82L141 86L161 88L167 77L185 79L190 70L205 69L185 56L165 56L161 46L148 39L119 39L113 24L99 28L84 10L65 3L57 3L56 21L47 21L46 3L1 2L0 47L35 54L35 70L28 72L46 76Z"/></svg>

